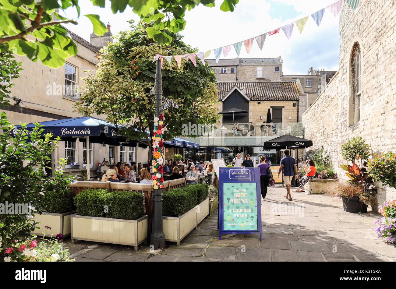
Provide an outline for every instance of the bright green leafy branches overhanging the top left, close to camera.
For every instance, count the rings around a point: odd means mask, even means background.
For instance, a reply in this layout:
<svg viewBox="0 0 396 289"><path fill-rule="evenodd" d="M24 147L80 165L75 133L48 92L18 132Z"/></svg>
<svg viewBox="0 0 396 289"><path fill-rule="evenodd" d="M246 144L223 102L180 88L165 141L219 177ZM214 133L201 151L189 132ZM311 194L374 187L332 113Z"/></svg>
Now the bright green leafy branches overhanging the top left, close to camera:
<svg viewBox="0 0 396 289"><path fill-rule="evenodd" d="M105 0L91 0L93 5L104 8ZM184 29L185 11L191 10L202 3L205 6L215 6L215 0L110 0L111 10L115 14L123 12L130 6L142 21L154 21L147 30L150 38L158 44L170 44L171 32ZM233 11L238 0L224 0L220 9ZM76 19L69 19L59 13L59 10L74 8ZM65 14L67 15L67 14ZM100 21L99 15L86 14L91 21L93 32L103 35L107 28ZM78 0L0 0L0 51L9 49L13 53L26 55L32 61L38 59L49 67L63 66L68 57L77 53L77 47L67 29L61 24L78 24L80 6Z"/></svg>

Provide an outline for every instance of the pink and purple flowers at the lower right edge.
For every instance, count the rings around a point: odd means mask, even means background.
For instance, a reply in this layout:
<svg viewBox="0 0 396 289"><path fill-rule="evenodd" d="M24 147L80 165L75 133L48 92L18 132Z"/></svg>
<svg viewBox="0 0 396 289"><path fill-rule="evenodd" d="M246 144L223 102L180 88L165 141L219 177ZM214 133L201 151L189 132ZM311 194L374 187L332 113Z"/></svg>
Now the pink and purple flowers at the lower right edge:
<svg viewBox="0 0 396 289"><path fill-rule="evenodd" d="M379 206L379 212L383 217L375 222L378 226L373 231L378 238L385 238L396 247L396 200Z"/></svg>

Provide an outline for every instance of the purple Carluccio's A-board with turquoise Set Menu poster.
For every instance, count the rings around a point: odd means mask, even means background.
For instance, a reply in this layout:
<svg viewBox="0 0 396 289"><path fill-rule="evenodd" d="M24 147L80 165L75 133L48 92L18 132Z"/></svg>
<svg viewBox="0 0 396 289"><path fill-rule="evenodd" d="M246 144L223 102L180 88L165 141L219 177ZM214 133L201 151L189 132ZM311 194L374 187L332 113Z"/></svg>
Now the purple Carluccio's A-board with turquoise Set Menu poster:
<svg viewBox="0 0 396 289"><path fill-rule="evenodd" d="M219 239L221 234L260 234L260 168L219 167Z"/></svg>

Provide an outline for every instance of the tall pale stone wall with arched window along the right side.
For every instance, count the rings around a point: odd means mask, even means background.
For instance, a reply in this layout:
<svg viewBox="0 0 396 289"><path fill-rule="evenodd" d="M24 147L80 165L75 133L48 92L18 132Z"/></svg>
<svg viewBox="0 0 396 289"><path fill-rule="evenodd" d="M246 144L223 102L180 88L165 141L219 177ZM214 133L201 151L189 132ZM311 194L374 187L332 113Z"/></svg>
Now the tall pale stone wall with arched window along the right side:
<svg viewBox="0 0 396 289"><path fill-rule="evenodd" d="M340 15L339 72L302 116L305 137L329 150L346 180L341 145L361 136L372 153L396 151L396 3L361 0L356 11L344 2ZM376 184L374 210L396 199L396 190Z"/></svg>

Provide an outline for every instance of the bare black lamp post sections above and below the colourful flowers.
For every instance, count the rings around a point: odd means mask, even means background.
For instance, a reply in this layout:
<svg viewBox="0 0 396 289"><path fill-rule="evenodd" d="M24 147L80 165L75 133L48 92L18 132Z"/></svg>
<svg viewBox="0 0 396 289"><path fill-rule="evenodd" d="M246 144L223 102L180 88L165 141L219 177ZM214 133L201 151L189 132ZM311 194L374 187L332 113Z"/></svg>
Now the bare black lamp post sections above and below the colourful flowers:
<svg viewBox="0 0 396 289"><path fill-rule="evenodd" d="M161 59L157 59L157 72L155 74L155 117L160 115L159 108L162 103L162 73ZM154 189L152 194L152 232L150 235L150 245L154 249L165 249L165 234L162 227L162 188Z"/></svg>

